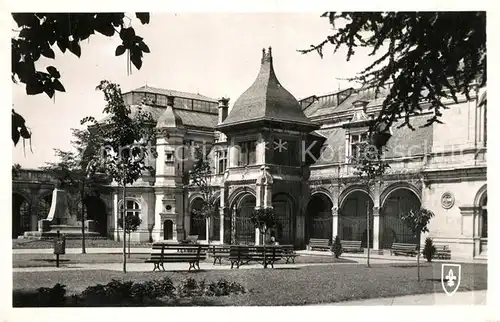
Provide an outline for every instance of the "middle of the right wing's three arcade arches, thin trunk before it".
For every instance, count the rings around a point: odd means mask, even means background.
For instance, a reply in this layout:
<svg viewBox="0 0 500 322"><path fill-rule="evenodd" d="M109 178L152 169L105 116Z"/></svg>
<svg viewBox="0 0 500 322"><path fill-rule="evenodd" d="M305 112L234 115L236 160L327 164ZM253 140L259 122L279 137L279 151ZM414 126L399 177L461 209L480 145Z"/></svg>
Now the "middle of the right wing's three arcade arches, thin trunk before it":
<svg viewBox="0 0 500 322"><path fill-rule="evenodd" d="M370 248L373 247L373 200L366 187L361 185L350 186L341 193L338 211L338 235L341 240L361 241L361 246L366 248L369 236ZM367 212L370 214L370 231Z"/></svg>

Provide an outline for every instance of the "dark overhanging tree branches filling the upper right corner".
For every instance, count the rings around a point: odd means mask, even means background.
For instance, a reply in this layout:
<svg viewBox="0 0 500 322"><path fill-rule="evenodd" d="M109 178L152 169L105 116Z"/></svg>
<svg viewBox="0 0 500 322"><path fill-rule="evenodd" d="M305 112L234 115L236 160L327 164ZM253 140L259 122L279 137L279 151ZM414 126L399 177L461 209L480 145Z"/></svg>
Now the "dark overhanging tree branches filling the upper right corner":
<svg viewBox="0 0 500 322"><path fill-rule="evenodd" d="M389 126L403 117L401 126L413 129L410 118L423 106L434 111L427 124L441 123L443 101L464 94L471 84L486 85L486 12L326 12L333 34L318 45L333 53L347 48L347 61L358 48L371 49L379 57L350 81L360 82L384 94L382 110L372 126Z"/></svg>

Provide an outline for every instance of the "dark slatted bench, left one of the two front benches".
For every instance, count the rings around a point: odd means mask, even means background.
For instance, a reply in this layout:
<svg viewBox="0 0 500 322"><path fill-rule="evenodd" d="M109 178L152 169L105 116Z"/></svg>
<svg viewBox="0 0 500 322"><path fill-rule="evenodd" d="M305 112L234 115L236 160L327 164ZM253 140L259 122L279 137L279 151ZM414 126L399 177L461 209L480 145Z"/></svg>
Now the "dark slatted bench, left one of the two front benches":
<svg viewBox="0 0 500 322"><path fill-rule="evenodd" d="M189 263L189 270L200 269L200 260L207 258L208 246L204 245L180 245L154 243L152 252L145 262L153 263L153 272L160 267L165 271L164 263Z"/></svg>

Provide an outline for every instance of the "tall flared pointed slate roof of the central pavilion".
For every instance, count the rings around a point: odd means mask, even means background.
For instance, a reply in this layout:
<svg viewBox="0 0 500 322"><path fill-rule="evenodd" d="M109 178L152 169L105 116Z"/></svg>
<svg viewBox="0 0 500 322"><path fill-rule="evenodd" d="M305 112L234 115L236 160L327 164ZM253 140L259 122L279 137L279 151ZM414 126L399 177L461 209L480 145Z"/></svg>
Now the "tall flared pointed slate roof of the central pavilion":
<svg viewBox="0 0 500 322"><path fill-rule="evenodd" d="M318 126L302 112L302 107L278 81L274 72L271 48L263 49L261 67L254 83L236 100L233 108L219 129L251 123L253 121L277 121L292 123L310 130Z"/></svg>

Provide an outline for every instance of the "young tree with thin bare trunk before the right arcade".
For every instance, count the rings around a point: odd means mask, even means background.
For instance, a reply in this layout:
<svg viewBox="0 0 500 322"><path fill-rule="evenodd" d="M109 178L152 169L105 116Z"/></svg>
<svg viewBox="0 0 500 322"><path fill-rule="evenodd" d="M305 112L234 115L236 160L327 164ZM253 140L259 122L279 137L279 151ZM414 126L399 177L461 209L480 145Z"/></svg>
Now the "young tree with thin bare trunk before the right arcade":
<svg viewBox="0 0 500 322"><path fill-rule="evenodd" d="M382 158L383 147L375 146L369 142L375 142L377 133L368 133L368 142L361 144L359 147L359 155L353 156L351 162L355 169L355 174L360 179L360 182L366 187L368 196L370 191L376 184L382 182L384 173L390 168L389 163ZM366 259L367 266L370 267L370 202L366 205Z"/></svg>

